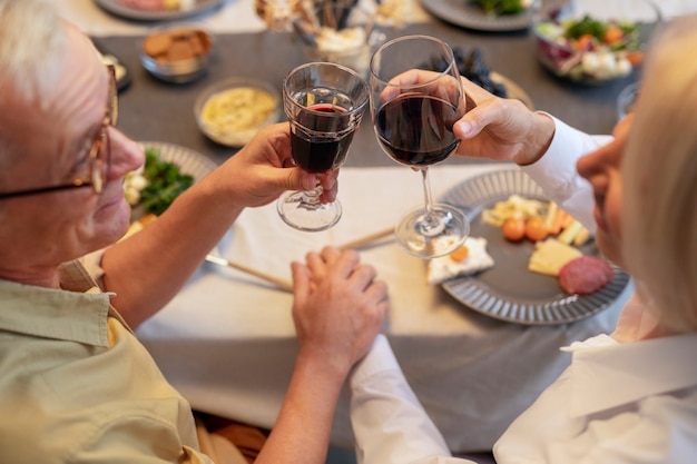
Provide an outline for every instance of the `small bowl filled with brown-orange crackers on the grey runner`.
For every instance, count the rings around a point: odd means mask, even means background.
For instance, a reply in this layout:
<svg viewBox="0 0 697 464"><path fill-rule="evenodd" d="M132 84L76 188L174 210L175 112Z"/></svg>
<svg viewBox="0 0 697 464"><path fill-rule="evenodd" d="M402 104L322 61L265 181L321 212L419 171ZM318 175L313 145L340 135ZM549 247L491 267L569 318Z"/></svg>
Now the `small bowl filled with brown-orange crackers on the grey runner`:
<svg viewBox="0 0 697 464"><path fill-rule="evenodd" d="M140 42L140 61L167 82L192 82L206 73L213 38L198 26L173 24L150 32Z"/></svg>

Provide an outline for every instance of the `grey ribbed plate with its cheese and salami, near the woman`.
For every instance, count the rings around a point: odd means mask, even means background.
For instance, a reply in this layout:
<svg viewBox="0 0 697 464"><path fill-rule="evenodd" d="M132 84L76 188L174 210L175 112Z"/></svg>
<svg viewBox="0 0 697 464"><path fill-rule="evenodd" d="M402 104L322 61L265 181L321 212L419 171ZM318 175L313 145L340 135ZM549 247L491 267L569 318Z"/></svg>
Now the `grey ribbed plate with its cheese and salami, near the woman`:
<svg viewBox="0 0 697 464"><path fill-rule="evenodd" d="M465 211L471 221L468 240L477 243L473 256L478 263L485 259L485 255L491 260L479 269L468 269L465 257L461 261L462 273L455 272L441 279L430 276L430 283L441 285L473 310L524 325L571 323L609 307L628 285L629 276L601 258L592 237L583 235L578 221L570 221L569 231L560 229L557 236L550 236L547 229L540 236L524 229L519 237L504 235L509 231L503 229L502 223L501 226L492 224L488 215L495 213L498 205L507 205L512 196L526 204L544 205L544 208L551 205L539 186L518 168L468 179L440 199ZM543 216L552 217L549 209L543 210ZM485 255L481 253L482 240ZM467 247L467 240L464 245ZM452 260L449 256L444 258ZM576 259L578 263L561 270ZM588 265L589 259L593 264ZM432 272L433 263L429 266ZM607 269L611 275L605 274ZM576 277L579 273L592 274L601 280L589 286L588 280Z"/></svg>

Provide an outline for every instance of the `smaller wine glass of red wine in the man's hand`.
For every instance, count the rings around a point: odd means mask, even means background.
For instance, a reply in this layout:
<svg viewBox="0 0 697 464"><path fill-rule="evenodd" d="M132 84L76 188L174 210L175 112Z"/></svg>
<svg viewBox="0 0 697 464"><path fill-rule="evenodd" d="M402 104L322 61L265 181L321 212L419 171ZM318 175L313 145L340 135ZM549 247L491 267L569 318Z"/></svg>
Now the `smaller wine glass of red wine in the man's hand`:
<svg viewBox="0 0 697 464"><path fill-rule="evenodd" d="M283 80L293 161L317 176L314 189L287 191L278 198L278 214L289 226L318 231L328 229L341 218L338 200L320 201L320 177L343 165L367 101L365 80L341 65L310 62L295 68Z"/></svg>

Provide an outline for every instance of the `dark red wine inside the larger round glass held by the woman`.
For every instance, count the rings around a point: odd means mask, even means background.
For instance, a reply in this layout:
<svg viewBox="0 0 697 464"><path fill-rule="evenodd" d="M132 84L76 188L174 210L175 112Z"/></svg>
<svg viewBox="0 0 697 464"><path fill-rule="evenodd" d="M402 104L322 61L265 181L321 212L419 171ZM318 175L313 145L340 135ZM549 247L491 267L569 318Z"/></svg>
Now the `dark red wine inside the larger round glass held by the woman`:
<svg viewBox="0 0 697 464"><path fill-rule="evenodd" d="M458 108L440 98L405 93L383 105L375 117L377 141L395 161L429 166L458 148L452 131Z"/></svg>

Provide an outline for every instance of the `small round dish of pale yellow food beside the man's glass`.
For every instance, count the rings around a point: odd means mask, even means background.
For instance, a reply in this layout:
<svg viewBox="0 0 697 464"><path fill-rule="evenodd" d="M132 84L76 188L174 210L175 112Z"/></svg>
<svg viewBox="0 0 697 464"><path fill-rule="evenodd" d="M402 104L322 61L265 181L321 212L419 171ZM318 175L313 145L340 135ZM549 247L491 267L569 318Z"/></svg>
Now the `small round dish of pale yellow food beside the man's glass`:
<svg viewBox="0 0 697 464"><path fill-rule="evenodd" d="M275 87L247 78L225 79L204 89L194 105L200 130L213 141L242 147L281 117Z"/></svg>

